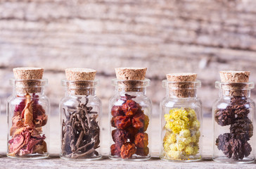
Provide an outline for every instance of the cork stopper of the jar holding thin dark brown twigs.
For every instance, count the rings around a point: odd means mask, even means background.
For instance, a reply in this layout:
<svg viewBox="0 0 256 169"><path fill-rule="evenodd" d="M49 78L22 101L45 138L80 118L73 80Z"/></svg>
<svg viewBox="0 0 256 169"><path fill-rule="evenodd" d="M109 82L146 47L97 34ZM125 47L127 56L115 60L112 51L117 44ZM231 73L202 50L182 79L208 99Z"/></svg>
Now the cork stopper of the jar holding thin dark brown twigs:
<svg viewBox="0 0 256 169"><path fill-rule="evenodd" d="M89 95L94 92L96 70L89 68L67 68L65 75L68 81L68 93L75 95Z"/></svg>

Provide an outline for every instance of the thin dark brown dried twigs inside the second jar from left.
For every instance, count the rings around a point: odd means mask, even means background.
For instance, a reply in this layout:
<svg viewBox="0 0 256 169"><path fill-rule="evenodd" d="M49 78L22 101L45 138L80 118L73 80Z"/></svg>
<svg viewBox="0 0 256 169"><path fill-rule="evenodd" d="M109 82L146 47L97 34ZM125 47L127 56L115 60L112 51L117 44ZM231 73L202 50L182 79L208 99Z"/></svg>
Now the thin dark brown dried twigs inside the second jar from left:
<svg viewBox="0 0 256 169"><path fill-rule="evenodd" d="M100 127L98 126L98 113L91 111L92 107L79 104L76 108L63 108L66 120L62 126L62 152L68 158L89 158L98 156Z"/></svg>

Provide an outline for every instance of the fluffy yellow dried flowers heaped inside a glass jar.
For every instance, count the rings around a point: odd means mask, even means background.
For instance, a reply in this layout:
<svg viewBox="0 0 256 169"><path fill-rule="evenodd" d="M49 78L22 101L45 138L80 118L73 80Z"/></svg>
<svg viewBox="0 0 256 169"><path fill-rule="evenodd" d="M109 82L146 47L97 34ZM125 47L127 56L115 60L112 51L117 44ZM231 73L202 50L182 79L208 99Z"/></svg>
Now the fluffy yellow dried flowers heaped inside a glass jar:
<svg viewBox="0 0 256 169"><path fill-rule="evenodd" d="M165 114L164 156L183 160L198 154L200 123L192 108L172 108Z"/></svg>

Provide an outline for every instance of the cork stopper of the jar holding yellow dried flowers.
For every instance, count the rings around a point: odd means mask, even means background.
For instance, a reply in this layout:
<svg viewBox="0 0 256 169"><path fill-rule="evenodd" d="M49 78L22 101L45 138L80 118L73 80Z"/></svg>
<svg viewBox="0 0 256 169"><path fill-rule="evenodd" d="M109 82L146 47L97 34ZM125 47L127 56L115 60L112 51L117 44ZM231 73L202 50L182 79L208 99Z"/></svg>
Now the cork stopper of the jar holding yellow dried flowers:
<svg viewBox="0 0 256 169"><path fill-rule="evenodd" d="M196 73L169 73L166 75L169 83L170 95L179 98L196 96Z"/></svg>

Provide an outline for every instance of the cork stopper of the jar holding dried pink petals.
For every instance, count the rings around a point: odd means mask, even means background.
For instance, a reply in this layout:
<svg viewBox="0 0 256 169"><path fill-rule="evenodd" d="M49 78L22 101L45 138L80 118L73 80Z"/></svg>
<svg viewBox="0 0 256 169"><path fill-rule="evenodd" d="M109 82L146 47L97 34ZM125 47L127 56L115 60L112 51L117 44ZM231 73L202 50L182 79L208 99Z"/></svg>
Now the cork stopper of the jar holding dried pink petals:
<svg viewBox="0 0 256 169"><path fill-rule="evenodd" d="M37 93L41 92L41 78L43 77L43 68L13 68L13 74L16 80L16 92L19 93Z"/></svg>

